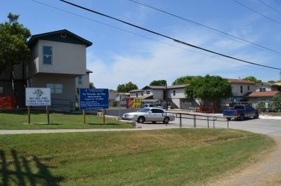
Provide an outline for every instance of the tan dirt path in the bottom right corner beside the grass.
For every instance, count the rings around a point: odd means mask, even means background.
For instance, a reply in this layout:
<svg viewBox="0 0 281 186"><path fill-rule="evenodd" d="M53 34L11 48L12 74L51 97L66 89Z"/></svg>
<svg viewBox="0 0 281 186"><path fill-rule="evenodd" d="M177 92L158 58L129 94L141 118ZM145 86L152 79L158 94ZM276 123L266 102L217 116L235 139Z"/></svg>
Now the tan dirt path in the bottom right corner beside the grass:
<svg viewBox="0 0 281 186"><path fill-rule="evenodd" d="M281 185L281 137L270 135L276 141L275 149L261 161L247 166L239 173L226 175L206 186L276 186Z"/></svg>

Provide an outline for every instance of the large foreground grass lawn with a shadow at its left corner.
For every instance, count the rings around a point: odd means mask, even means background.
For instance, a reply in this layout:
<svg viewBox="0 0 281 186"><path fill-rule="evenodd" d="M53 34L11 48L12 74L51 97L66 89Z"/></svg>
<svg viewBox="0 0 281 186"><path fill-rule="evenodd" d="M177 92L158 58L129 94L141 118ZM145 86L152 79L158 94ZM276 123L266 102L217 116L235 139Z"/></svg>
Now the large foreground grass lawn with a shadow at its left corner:
<svg viewBox="0 0 281 186"><path fill-rule="evenodd" d="M207 128L0 135L0 185L202 185L273 145Z"/></svg>

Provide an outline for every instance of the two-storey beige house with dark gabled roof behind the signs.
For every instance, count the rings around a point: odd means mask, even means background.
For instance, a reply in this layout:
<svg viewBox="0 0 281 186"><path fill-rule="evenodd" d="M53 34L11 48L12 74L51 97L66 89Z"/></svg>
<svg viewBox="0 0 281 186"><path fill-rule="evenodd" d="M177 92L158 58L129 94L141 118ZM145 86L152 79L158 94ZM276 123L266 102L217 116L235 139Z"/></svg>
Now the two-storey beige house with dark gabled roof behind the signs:
<svg viewBox="0 0 281 186"><path fill-rule="evenodd" d="M52 106L71 107L77 88L89 87L91 71L86 69L86 48L92 45L91 41L62 29L33 35L28 44L32 51L30 63L14 67L18 105L25 106L25 87L47 87L51 88ZM8 79L11 81L9 74L0 77L0 87L5 90L2 96L13 93L13 88L3 83Z"/></svg>

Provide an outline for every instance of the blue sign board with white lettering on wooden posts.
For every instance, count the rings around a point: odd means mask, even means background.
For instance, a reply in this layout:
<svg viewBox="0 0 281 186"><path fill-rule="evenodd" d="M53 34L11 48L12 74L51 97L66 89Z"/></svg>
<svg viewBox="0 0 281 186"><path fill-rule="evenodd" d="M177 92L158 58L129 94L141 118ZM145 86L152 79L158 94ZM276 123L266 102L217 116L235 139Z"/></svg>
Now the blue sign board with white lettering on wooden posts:
<svg viewBox="0 0 281 186"><path fill-rule="evenodd" d="M80 88L80 109L108 109L108 89Z"/></svg>

